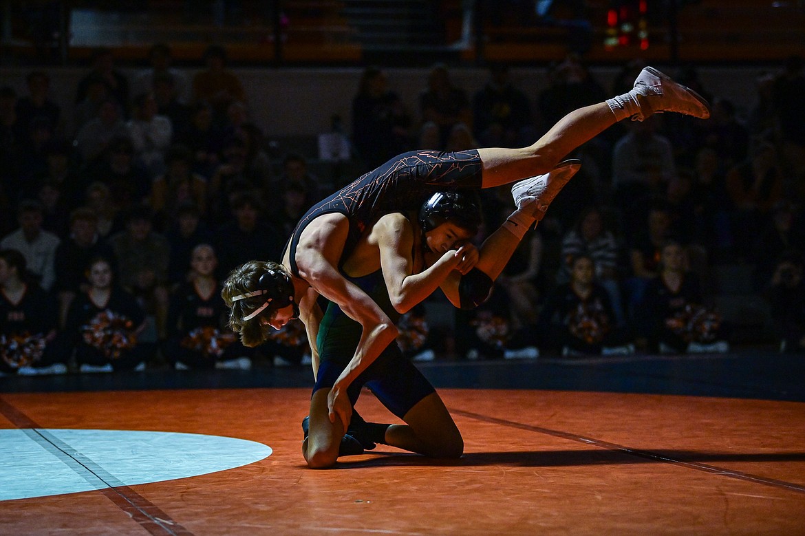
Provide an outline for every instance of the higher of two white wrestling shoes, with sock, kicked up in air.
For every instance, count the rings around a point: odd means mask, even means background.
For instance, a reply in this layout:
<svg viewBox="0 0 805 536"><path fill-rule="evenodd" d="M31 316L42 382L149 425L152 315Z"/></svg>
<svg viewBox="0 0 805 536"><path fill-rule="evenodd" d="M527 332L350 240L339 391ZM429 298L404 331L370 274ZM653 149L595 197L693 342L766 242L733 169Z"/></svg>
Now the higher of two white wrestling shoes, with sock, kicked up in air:
<svg viewBox="0 0 805 536"><path fill-rule="evenodd" d="M653 113L663 112L683 113L700 119L710 117L710 105L699 93L653 67L643 68L630 93L640 105L640 113L634 114L632 121L643 121Z"/></svg>

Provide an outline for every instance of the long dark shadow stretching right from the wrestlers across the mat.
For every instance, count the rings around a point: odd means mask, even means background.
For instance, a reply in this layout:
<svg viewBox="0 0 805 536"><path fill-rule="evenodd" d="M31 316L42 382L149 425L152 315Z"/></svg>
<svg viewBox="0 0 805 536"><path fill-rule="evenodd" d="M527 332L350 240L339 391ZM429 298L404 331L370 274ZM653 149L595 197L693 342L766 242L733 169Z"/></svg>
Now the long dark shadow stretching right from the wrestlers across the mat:
<svg viewBox="0 0 805 536"><path fill-rule="evenodd" d="M514 452L465 452L460 460L436 460L418 454L403 452L367 451L370 459L339 458L341 466L349 468L376 465L424 465L439 467L467 467L483 465L512 465L520 467L572 467L577 465L626 465L626 464L708 464L713 462L805 462L805 452L700 452L700 451L617 451L589 449L574 451L514 451Z"/></svg>

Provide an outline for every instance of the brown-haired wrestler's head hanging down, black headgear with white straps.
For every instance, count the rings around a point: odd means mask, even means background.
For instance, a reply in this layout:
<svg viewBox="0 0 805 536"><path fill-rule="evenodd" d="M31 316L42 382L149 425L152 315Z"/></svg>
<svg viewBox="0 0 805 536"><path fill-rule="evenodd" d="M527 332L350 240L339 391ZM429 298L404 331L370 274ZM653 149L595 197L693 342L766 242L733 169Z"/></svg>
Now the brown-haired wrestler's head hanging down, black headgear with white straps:
<svg viewBox="0 0 805 536"><path fill-rule="evenodd" d="M250 261L229 273L221 289L229 307L229 327L244 346L262 344L271 328L299 316L291 275L276 262Z"/></svg>

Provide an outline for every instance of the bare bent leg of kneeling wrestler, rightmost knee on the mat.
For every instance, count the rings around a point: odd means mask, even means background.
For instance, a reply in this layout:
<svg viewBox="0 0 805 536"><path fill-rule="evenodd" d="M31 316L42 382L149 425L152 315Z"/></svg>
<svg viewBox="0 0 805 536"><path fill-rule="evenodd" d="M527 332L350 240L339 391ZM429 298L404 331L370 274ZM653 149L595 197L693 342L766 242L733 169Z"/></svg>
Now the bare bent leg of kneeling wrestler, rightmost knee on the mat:
<svg viewBox="0 0 805 536"><path fill-rule="evenodd" d="M464 453L464 439L438 393L416 403L403 420L386 430L386 444L417 452L431 458L459 458Z"/></svg>

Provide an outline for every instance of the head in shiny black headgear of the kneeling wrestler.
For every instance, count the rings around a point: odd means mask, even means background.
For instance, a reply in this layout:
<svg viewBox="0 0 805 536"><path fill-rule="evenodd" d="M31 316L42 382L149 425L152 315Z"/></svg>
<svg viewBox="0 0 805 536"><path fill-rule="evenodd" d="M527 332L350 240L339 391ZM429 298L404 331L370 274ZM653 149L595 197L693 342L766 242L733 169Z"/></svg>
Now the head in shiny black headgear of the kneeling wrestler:
<svg viewBox="0 0 805 536"><path fill-rule="evenodd" d="M419 209L423 243L444 254L469 241L481 226L481 201L475 191L437 192Z"/></svg>

